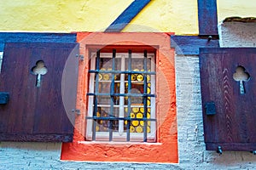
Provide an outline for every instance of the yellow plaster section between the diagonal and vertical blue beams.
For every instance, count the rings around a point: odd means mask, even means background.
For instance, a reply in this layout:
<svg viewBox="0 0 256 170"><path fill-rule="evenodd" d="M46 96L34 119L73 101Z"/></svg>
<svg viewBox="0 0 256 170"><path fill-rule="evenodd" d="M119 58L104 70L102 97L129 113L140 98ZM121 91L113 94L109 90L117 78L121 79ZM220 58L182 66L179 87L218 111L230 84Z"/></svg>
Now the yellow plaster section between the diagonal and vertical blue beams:
<svg viewBox="0 0 256 170"><path fill-rule="evenodd" d="M153 0L124 31L174 31L198 34L197 0Z"/></svg>

